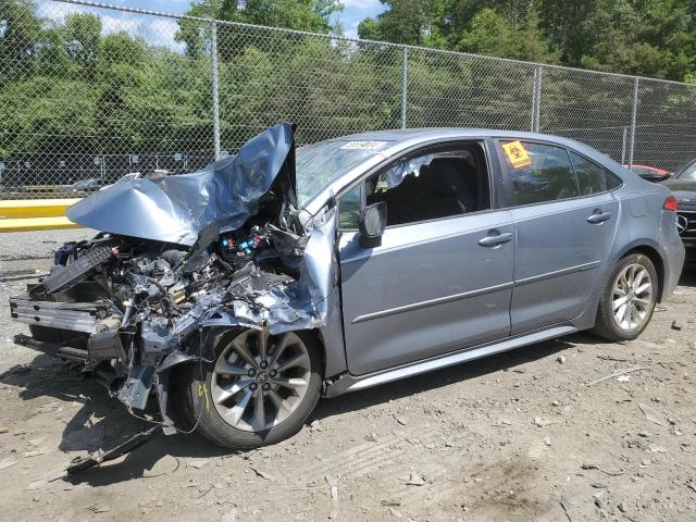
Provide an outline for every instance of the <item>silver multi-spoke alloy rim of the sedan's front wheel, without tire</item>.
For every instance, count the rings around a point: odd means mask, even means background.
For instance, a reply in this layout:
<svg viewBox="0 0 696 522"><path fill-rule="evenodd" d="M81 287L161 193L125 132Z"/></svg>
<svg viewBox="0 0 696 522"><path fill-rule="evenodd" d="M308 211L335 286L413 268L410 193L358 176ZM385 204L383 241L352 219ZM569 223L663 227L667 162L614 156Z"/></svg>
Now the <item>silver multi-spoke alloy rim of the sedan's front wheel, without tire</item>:
<svg viewBox="0 0 696 522"><path fill-rule="evenodd" d="M297 334L248 330L220 353L211 396L227 424L245 432L263 432L299 407L310 376L309 351Z"/></svg>

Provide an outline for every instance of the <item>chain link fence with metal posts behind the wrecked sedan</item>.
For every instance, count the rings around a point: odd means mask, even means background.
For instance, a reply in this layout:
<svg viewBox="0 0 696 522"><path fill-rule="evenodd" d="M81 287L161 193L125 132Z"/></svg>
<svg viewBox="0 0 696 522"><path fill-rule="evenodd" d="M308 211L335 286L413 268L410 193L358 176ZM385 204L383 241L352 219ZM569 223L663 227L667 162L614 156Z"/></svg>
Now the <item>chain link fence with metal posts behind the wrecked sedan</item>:
<svg viewBox="0 0 696 522"><path fill-rule="evenodd" d="M278 121L300 145L470 126L566 136L623 164L696 157L686 84L83 0L0 8L0 198L190 172Z"/></svg>

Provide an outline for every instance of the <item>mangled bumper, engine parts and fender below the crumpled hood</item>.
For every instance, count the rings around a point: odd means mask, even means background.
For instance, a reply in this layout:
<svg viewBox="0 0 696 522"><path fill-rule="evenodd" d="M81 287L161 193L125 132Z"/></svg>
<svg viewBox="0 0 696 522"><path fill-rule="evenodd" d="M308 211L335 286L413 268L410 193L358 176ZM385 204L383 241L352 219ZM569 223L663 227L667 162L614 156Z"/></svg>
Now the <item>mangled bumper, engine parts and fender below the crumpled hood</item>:
<svg viewBox="0 0 696 522"><path fill-rule="evenodd" d="M184 262L169 265L162 258L154 261L157 270L148 271L151 252L142 254L147 262L137 256L122 260L116 252L127 240L111 236L112 243L119 243L112 247L114 254L86 276L73 271L74 278L82 281L70 279L65 272L71 272L72 264L67 264L25 295L10 298L12 318L28 324L32 332L16 336L15 341L84 363L84 372L138 417L156 399L164 433L174 433L167 413L170 371L183 363L212 360L221 333L244 327L279 334L325 323L327 299L322 294L335 285L335 275L326 270L334 256L334 214L310 235L297 278L269 272L254 261L235 270L214 252L195 261L195 271ZM266 254L271 250L269 244ZM60 286L61 291L49 291L55 277L67 283ZM110 283L95 288L105 281ZM73 300L95 293L99 298L94 301ZM121 300L124 295L126 299Z"/></svg>

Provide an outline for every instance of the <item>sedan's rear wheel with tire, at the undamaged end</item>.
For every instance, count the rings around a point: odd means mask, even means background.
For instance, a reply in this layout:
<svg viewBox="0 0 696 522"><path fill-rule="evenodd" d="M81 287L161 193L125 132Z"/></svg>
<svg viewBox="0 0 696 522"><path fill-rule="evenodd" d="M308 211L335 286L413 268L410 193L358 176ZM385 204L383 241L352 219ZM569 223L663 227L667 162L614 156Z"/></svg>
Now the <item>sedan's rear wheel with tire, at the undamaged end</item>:
<svg viewBox="0 0 696 522"><path fill-rule="evenodd" d="M659 291L657 271L642 253L614 266L597 309L593 333L608 340L633 340L650 322Z"/></svg>

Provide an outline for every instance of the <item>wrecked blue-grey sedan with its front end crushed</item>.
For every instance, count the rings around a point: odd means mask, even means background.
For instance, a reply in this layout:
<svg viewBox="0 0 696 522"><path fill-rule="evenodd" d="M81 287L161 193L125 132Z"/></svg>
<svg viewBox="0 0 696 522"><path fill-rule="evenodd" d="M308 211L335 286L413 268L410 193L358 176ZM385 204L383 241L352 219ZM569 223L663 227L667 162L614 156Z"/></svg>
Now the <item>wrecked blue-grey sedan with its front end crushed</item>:
<svg viewBox="0 0 696 522"><path fill-rule="evenodd" d="M581 144L278 124L201 172L115 184L101 232L11 299L16 341L164 433L250 448L321 395L595 328L635 338L683 262L669 191Z"/></svg>

